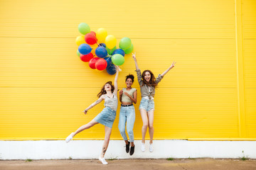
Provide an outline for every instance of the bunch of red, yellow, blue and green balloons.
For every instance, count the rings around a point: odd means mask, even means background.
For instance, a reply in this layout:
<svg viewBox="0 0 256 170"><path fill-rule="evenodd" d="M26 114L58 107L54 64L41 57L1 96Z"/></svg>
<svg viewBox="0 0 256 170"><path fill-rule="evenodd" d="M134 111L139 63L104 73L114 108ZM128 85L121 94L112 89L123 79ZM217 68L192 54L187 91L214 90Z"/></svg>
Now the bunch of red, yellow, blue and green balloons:
<svg viewBox="0 0 256 170"><path fill-rule="evenodd" d="M87 23L80 23L79 35L75 42L79 46L77 54L80 60L88 62L91 69L107 70L108 74L115 74L114 65L124 64L124 55L132 53L134 46L129 38L122 38L117 49L117 39L114 35L107 35L105 28L99 28L97 32L90 30Z"/></svg>

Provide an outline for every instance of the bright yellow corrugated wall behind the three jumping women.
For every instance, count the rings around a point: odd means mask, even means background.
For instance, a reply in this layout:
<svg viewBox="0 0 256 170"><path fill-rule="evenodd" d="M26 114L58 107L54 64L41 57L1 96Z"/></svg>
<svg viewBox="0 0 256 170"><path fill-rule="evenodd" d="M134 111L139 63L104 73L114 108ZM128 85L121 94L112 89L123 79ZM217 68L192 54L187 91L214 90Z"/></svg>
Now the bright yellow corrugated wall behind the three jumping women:
<svg viewBox="0 0 256 170"><path fill-rule="evenodd" d="M255 0L0 0L0 140L63 140L102 110L82 113L114 76L76 55L81 22L131 38L142 70L177 62L156 90L154 139L256 139ZM131 55L121 68L119 89L135 74ZM75 138L103 137L96 125Z"/></svg>

